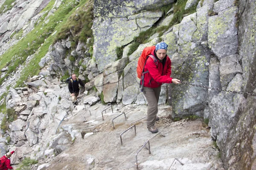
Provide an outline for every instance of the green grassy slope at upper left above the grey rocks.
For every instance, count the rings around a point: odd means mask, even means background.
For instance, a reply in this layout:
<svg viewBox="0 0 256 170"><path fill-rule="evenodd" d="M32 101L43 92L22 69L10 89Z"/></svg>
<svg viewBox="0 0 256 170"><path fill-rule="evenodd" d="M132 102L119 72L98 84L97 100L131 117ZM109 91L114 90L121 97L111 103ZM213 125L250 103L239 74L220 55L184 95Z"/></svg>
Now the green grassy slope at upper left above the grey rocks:
<svg viewBox="0 0 256 170"><path fill-rule="evenodd" d="M43 11L49 12L54 3L55 0L50 1ZM86 4L88 6L85 6ZM17 70L20 64L24 65L27 57L32 54L34 54L34 57L29 62L29 65L22 71L20 79L17 80L16 87L23 85L23 82L29 76L37 75L40 72L38 62L40 62L41 58L47 54L49 45L58 39L72 35L72 33L68 33L70 27L74 29L75 34L78 34L79 29L84 27L81 34L74 36L74 39L76 38L77 40L86 41L86 38L84 37L92 37L92 32L87 31L90 30L88 27L91 26L91 21L93 19L91 12L92 5L93 3L91 0L81 0L80 2L77 2L76 0L63 0L61 6L55 11L55 13L47 18L47 20L49 20L47 24L44 23L44 19L47 17L48 12L44 14L39 19L41 22L39 24L37 23L35 28L29 32L26 37L23 37L16 45L0 56L0 69L6 66L9 68L5 77L0 79L0 85L6 77ZM76 10L77 8L81 8L83 10ZM81 11L83 11L83 13ZM78 15L76 15L77 13ZM74 20L74 17L79 18ZM90 21L91 24L86 21ZM21 31L22 30L20 30L20 32ZM57 31L57 34L51 35L55 31Z"/></svg>

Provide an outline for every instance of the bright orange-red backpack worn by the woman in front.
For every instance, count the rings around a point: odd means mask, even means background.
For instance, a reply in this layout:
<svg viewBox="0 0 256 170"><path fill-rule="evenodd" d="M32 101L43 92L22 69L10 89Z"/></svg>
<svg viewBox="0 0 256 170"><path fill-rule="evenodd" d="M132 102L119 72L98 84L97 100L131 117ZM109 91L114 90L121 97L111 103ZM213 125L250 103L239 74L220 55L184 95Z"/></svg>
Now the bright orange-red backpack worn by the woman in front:
<svg viewBox="0 0 256 170"><path fill-rule="evenodd" d="M138 60L138 65L137 65L137 77L139 79L141 79L141 77L143 75L144 67L145 67L148 57L151 57L154 60L155 64L157 65L157 59L153 55L150 55L151 52L155 49L156 49L155 46L150 46L150 47L146 47L143 49L143 51L140 55L140 58Z"/></svg>

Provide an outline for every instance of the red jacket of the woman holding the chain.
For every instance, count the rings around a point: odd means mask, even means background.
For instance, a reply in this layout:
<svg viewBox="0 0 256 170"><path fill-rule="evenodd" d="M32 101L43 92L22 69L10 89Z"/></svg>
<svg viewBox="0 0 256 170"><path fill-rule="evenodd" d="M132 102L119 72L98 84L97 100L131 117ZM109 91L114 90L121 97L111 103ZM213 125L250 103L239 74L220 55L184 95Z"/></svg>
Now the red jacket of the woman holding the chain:
<svg viewBox="0 0 256 170"><path fill-rule="evenodd" d="M154 55L154 50L151 52L151 55ZM155 56L157 59L157 56ZM162 62L157 59L157 65L151 57L148 57L144 72L148 71L149 73L144 74L144 85L148 88L157 88L163 83L172 83L171 76L171 59L166 55L166 63L163 68Z"/></svg>

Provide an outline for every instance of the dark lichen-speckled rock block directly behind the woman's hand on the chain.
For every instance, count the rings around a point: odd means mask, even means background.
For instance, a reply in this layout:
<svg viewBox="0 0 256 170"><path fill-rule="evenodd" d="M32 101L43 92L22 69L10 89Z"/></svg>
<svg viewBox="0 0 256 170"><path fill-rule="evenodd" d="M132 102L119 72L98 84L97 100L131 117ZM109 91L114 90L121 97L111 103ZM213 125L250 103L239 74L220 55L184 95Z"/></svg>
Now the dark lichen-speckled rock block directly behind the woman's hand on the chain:
<svg viewBox="0 0 256 170"><path fill-rule="evenodd" d="M181 45L172 56L172 77L182 77L184 82L209 85L208 65L211 52L201 42ZM208 64L207 64L208 63ZM185 84L170 85L172 117L185 115L203 116L207 105L208 90Z"/></svg>

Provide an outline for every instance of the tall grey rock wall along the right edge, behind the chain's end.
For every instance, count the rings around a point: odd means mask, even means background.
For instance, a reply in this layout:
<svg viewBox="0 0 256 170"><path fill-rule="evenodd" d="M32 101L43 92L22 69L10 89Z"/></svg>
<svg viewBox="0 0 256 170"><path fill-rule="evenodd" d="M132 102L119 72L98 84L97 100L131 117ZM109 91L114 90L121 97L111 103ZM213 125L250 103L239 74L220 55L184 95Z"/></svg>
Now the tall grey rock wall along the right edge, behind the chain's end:
<svg viewBox="0 0 256 170"><path fill-rule="evenodd" d="M252 78L256 74L253 66L256 64L256 39L253 33L255 32L256 20L252 17L255 15L255 2L253 3L252 0L239 1L239 15L241 17L239 19L238 39L236 39L237 28L235 27L235 15L238 10L236 7L225 9L224 3L225 1L218 1L218 6L216 4L214 10L223 11L219 12L218 17L212 17L212 21L218 22L220 27L209 27L211 29L209 33L214 33L214 36L211 37L215 37L212 41L215 42L212 45L213 50L220 59L219 83L221 83L222 88L228 90L255 93L256 83L255 79ZM223 24L228 24L228 26L221 26ZM223 44L225 42L227 45ZM239 54L236 54L238 44ZM232 63L233 66L231 67ZM212 71L215 69L213 68ZM209 93L209 95L212 98L209 101L209 124L212 127L212 136L216 139L221 150L221 158L227 162L225 168L229 170L255 169L256 97L230 93L215 95Z"/></svg>

